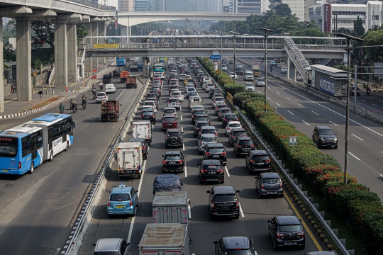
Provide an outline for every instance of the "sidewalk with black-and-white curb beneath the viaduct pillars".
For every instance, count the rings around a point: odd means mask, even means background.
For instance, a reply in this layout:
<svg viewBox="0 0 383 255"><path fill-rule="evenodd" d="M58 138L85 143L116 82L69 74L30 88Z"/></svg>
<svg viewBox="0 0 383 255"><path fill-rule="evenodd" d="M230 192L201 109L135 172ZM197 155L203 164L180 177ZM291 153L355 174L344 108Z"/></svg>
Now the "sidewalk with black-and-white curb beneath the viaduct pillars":
<svg viewBox="0 0 383 255"><path fill-rule="evenodd" d="M112 64L113 62L114 60L108 60L106 61L104 66L101 66L100 64L100 68L98 68L97 72L93 74L99 74L107 68L108 64ZM92 73L90 74L92 75ZM9 96L4 96L5 111L3 113L0 113L0 119L13 118L20 115L35 113L36 111L41 111L47 107L52 106L55 103L64 101L67 98L74 98L75 96L77 96L77 93L87 91L90 88L91 84L96 82L95 80L91 79L91 75L90 77L82 78L77 82L68 83L68 91L65 91L65 89L56 89L55 85L48 86L47 84L42 84L36 86L31 101L17 101L17 94L10 94ZM43 96L41 99L40 95L38 95L38 91L40 90L43 90Z"/></svg>

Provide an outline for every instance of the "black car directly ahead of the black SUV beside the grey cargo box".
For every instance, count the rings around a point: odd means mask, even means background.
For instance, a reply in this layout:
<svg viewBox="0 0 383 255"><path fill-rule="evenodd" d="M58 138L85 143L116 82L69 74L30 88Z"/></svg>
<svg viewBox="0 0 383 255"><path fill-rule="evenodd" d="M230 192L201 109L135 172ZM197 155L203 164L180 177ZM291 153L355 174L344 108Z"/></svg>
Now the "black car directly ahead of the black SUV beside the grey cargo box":
<svg viewBox="0 0 383 255"><path fill-rule="evenodd" d="M223 174L223 167L219 160L202 160L201 164L198 164L198 166L199 183L206 183L206 181L225 183L225 174Z"/></svg>

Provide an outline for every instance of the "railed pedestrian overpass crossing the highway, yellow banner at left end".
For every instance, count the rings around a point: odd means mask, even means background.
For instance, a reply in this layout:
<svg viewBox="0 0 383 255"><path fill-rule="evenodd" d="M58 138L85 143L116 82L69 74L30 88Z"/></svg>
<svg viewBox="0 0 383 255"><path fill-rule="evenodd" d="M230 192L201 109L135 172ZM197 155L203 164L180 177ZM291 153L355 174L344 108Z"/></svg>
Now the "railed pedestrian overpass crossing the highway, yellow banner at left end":
<svg viewBox="0 0 383 255"><path fill-rule="evenodd" d="M333 58L345 60L345 38L289 37L305 58ZM106 44L94 44L96 40ZM292 57L287 52L287 37L267 38L267 57ZM264 57L265 38L258 35L146 35L146 36L89 36L87 57Z"/></svg>

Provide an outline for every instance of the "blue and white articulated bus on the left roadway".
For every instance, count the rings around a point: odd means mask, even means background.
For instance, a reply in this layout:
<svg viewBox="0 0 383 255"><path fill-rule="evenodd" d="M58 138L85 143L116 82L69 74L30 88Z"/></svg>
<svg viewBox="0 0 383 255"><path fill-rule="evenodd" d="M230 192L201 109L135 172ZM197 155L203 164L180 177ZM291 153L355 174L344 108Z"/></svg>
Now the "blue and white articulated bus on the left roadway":
<svg viewBox="0 0 383 255"><path fill-rule="evenodd" d="M0 174L33 173L73 144L71 115L47 113L0 132Z"/></svg>

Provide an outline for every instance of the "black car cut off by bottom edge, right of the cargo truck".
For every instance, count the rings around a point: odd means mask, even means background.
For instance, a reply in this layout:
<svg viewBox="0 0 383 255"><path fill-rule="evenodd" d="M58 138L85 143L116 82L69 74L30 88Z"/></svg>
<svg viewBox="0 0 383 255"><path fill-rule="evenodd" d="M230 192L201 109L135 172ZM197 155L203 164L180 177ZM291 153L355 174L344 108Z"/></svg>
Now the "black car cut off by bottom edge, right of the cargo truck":
<svg viewBox="0 0 383 255"><path fill-rule="evenodd" d="M216 245L216 255L255 255L257 253L252 248L254 243L254 240L249 240L248 237L222 237L218 241L213 242Z"/></svg>

